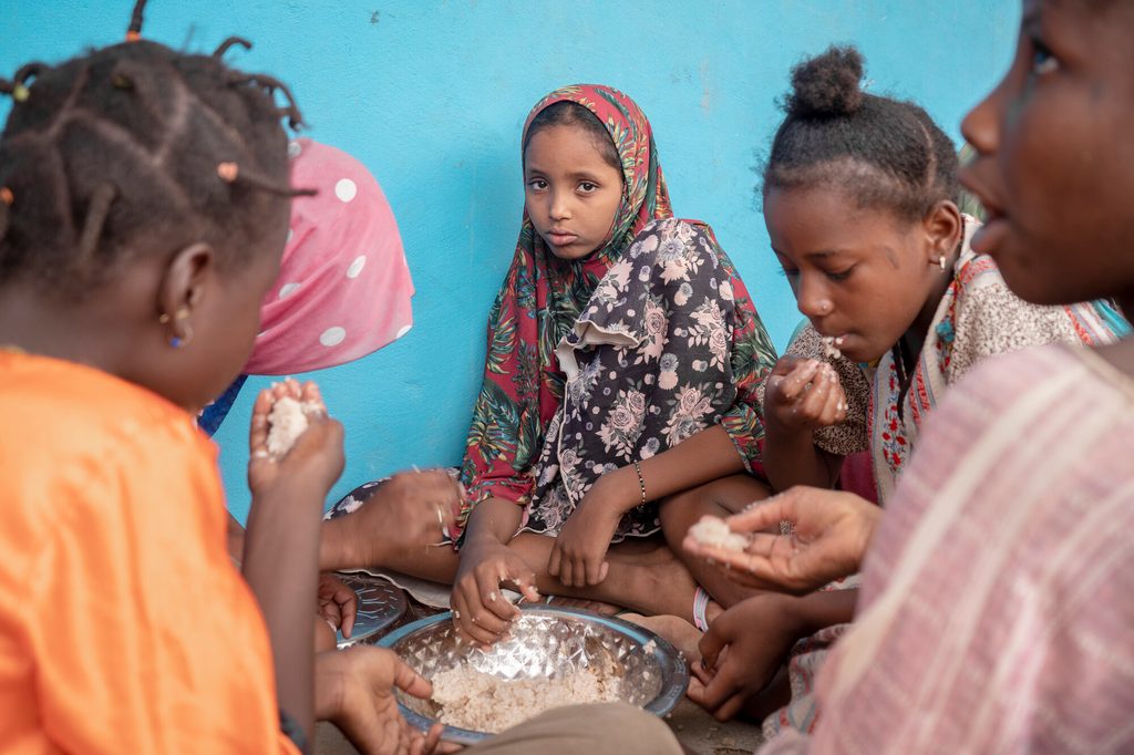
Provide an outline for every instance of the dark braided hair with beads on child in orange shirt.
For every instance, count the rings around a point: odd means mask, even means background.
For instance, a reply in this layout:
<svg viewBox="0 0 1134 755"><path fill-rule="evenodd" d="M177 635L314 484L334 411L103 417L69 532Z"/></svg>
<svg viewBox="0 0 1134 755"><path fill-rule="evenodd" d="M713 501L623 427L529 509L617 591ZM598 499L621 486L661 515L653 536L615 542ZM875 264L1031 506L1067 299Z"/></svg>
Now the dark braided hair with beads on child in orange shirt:
<svg viewBox="0 0 1134 755"><path fill-rule="evenodd" d="M196 241L237 265L288 197L312 193L288 186L280 118L303 121L290 92L221 59L249 43L176 52L141 39L144 7L127 42L0 79L15 101L0 135L0 285L82 296L132 256Z"/></svg>

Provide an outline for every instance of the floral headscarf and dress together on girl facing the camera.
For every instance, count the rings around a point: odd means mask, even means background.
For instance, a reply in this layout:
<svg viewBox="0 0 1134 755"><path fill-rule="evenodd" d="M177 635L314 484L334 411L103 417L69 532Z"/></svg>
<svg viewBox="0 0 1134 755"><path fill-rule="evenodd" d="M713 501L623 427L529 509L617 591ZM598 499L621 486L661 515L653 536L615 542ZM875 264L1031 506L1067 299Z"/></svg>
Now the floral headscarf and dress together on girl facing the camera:
<svg viewBox="0 0 1134 755"><path fill-rule="evenodd" d="M565 87L527 125L560 101L607 127L621 158L623 202L610 241L579 261L551 254L524 214L489 314L462 525L476 503L502 498L525 507L526 526L553 533L601 474L710 424L729 432L746 468L762 472L755 387L776 355L744 283L708 227L672 219L650 122L628 96ZM655 519L636 511L620 536L650 532Z"/></svg>

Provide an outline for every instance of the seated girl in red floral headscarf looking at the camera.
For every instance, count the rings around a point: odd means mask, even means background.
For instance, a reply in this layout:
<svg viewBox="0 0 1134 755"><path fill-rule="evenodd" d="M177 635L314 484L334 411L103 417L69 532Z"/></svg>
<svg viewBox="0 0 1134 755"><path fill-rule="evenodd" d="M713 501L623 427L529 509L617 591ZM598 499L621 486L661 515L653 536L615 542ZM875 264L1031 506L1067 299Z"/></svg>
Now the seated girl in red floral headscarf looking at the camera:
<svg viewBox="0 0 1134 755"><path fill-rule="evenodd" d="M500 584L531 595L538 575L548 589L662 608L620 593L607 551L658 532L657 501L762 473L755 388L776 359L712 230L672 217L628 96L552 92L527 118L523 162L524 220L462 468L471 510L452 606L485 643L516 616ZM667 612L688 618L689 597Z"/></svg>

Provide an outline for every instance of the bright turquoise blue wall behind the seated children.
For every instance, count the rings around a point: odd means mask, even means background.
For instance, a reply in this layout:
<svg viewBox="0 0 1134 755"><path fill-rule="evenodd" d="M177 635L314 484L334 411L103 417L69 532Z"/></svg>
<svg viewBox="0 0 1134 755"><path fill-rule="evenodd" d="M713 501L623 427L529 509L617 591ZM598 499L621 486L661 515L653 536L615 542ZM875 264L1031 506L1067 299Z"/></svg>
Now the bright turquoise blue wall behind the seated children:
<svg viewBox="0 0 1134 755"><path fill-rule="evenodd" d="M129 0L2 0L0 74L121 39ZM650 117L676 212L709 221L778 347L798 321L753 188L787 71L831 42L866 56L870 91L922 102L955 137L1014 44L1015 0L153 0L145 34L290 83L311 136L350 152L393 205L416 324L314 375L347 427L335 494L389 472L457 464L484 317L511 258L519 129L545 92L601 82ZM0 114L7 113L7 103ZM247 509L249 382L218 435L232 510Z"/></svg>

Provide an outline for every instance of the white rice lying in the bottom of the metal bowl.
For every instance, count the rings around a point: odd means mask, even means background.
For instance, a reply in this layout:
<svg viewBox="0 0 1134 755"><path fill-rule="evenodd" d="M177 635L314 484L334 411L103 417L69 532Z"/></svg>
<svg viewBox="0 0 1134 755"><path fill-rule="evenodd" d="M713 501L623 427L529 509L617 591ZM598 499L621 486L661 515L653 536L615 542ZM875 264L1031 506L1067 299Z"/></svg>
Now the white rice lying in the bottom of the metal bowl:
<svg viewBox="0 0 1134 755"><path fill-rule="evenodd" d="M621 699L621 678L609 659L558 679L501 679L458 667L433 676L438 721L460 729L498 733L564 705Z"/></svg>

